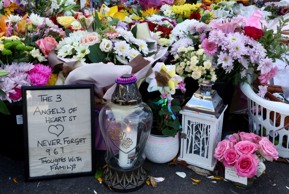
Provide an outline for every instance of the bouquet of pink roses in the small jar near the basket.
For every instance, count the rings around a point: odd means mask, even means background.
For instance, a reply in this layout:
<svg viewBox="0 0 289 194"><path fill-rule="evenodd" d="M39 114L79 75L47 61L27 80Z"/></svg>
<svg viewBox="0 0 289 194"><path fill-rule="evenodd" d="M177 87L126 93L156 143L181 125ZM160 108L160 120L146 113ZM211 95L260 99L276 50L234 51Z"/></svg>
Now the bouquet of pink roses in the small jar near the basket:
<svg viewBox="0 0 289 194"><path fill-rule="evenodd" d="M223 162L225 167L234 166L238 176L252 178L257 173L259 158L277 160L278 152L268 138L240 132L219 142L214 157Z"/></svg>

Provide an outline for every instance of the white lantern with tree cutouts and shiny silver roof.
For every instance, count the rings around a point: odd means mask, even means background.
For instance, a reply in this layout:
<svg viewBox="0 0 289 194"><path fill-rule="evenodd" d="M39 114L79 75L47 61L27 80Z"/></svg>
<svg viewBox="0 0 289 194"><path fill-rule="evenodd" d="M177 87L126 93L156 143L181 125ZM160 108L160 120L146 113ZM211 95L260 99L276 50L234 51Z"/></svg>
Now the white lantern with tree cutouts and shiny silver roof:
<svg viewBox="0 0 289 194"><path fill-rule="evenodd" d="M213 156L221 141L224 111L228 105L212 90L214 82L199 82L193 97L180 111L182 114L181 154L178 161L214 170L217 159Z"/></svg>

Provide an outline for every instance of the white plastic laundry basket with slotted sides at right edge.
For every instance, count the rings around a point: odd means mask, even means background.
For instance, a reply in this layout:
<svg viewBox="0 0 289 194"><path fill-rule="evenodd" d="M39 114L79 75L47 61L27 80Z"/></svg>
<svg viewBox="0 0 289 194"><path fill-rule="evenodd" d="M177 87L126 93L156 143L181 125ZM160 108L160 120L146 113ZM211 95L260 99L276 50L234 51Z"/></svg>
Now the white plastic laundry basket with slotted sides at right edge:
<svg viewBox="0 0 289 194"><path fill-rule="evenodd" d="M252 78L248 78L252 83ZM261 136L268 135L270 132L276 131L284 127L285 117L289 117L289 104L282 102L274 102L259 97L246 82L240 83L241 91L248 97L248 115L250 132L258 133ZM274 119L270 119L270 113L273 111ZM279 114L280 115L279 115ZM280 125L276 123L276 114L281 117ZM287 119L287 118L286 118ZM286 127L287 128L287 127ZM266 133L266 134L265 134ZM281 129L269 138L275 143L278 156L289 158L289 131Z"/></svg>

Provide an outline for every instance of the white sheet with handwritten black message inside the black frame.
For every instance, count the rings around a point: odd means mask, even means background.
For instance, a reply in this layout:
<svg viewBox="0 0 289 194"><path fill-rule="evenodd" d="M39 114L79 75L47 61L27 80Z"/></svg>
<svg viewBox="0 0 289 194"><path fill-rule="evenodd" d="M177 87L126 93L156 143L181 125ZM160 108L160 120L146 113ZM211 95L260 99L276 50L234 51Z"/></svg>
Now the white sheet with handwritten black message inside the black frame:
<svg viewBox="0 0 289 194"><path fill-rule="evenodd" d="M92 170L89 89L28 90L30 177Z"/></svg>

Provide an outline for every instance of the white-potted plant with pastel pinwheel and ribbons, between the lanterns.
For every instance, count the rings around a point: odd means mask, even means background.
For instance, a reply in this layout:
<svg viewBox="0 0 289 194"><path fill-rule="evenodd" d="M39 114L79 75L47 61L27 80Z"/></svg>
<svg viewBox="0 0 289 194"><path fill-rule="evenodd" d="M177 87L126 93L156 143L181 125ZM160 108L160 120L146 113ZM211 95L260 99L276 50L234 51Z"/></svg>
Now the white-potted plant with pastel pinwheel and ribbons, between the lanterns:
<svg viewBox="0 0 289 194"><path fill-rule="evenodd" d="M157 63L153 73L146 81L149 83L148 91L160 91L161 97L148 100L153 111L154 123L151 134L144 147L146 158L155 163L171 161L179 152L179 131L182 131L179 121L180 103L172 98L176 92L176 85L182 81L176 75L175 65Z"/></svg>

